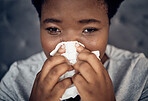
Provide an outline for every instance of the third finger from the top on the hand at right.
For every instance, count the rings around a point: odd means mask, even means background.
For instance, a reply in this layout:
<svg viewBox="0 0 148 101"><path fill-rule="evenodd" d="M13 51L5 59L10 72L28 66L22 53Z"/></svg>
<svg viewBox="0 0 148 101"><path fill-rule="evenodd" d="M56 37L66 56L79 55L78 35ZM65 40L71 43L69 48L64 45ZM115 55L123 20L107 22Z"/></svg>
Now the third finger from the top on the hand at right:
<svg viewBox="0 0 148 101"><path fill-rule="evenodd" d="M76 71L85 78L88 83L93 83L96 79L96 72L94 69L85 61L77 62L74 66Z"/></svg>

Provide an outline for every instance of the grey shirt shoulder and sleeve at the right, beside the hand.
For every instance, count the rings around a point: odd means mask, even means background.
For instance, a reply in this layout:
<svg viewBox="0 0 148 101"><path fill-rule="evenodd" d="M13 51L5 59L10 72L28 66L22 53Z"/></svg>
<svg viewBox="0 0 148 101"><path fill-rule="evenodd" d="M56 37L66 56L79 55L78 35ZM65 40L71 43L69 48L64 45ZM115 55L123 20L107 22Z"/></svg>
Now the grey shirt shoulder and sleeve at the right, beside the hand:
<svg viewBox="0 0 148 101"><path fill-rule="evenodd" d="M148 59L143 53L132 53L108 45L106 54L110 58L108 68L117 98L145 99L148 95ZM120 84L120 85L119 85ZM147 98L147 97L146 97ZM131 100L132 101L132 100Z"/></svg>

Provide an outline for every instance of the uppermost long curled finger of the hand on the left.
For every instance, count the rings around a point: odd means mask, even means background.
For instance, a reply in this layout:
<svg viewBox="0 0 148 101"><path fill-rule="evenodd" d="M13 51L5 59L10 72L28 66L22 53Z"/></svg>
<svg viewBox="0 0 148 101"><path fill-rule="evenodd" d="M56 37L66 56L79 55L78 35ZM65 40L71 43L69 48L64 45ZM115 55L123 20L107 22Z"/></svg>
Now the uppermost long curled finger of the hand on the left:
<svg viewBox="0 0 148 101"><path fill-rule="evenodd" d="M64 56L54 56L54 57L51 57L50 59L47 59L41 70L41 76L40 76L41 81L46 77L48 72L53 67L66 62L68 63L69 61Z"/></svg>

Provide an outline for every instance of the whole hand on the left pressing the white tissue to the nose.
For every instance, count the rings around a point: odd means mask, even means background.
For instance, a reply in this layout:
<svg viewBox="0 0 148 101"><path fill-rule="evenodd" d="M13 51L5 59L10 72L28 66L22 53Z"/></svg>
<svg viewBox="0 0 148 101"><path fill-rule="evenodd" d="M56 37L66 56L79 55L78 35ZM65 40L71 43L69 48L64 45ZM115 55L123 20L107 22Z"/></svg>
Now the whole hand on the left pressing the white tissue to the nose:
<svg viewBox="0 0 148 101"><path fill-rule="evenodd" d="M65 90L72 84L70 78L59 81L59 77L69 71L69 61L61 56L65 49L60 48L47 59L37 74L29 101L59 101Z"/></svg>

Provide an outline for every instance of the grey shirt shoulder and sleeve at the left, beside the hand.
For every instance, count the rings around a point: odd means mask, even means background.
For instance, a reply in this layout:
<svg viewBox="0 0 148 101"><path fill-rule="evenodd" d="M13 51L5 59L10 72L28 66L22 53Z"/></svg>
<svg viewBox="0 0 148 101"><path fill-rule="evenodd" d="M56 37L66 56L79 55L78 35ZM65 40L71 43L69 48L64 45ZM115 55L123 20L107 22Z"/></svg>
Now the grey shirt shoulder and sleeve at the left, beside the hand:
<svg viewBox="0 0 148 101"><path fill-rule="evenodd" d="M26 60L14 62L0 82L0 99L28 100L36 74L41 70L45 59L41 52Z"/></svg>

